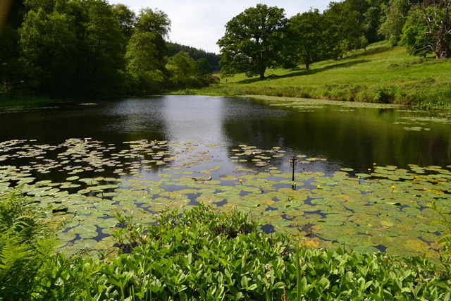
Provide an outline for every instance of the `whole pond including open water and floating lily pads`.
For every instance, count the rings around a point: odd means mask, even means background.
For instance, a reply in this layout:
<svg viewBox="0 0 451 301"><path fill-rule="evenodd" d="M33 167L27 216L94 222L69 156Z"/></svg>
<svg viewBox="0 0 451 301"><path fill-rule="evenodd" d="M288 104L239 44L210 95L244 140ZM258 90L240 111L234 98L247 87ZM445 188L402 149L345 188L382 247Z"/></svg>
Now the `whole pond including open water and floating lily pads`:
<svg viewBox="0 0 451 301"><path fill-rule="evenodd" d="M61 250L111 250L125 212L198 203L267 233L436 257L451 208L451 113L265 97L164 96L0 112L0 197L63 222ZM294 166L294 180L293 166Z"/></svg>

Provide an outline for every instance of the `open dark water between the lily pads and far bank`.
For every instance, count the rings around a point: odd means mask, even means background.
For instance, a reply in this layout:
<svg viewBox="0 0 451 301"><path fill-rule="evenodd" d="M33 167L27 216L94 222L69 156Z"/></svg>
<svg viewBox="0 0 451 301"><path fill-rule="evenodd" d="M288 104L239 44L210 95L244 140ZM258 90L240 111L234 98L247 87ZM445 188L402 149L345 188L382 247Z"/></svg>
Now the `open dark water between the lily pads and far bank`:
<svg viewBox="0 0 451 301"><path fill-rule="evenodd" d="M326 159L308 167L326 173L340 168L366 171L373 163L447 166L451 161L450 118L436 111L333 105L306 111L268 106L258 99L163 96L0 114L0 141L26 139L58 145L74 137L108 144L198 140L221 143L229 156L237 145L280 147L289 156ZM223 165L230 164L223 153L216 155L225 161ZM289 168L286 158L279 168Z"/></svg>

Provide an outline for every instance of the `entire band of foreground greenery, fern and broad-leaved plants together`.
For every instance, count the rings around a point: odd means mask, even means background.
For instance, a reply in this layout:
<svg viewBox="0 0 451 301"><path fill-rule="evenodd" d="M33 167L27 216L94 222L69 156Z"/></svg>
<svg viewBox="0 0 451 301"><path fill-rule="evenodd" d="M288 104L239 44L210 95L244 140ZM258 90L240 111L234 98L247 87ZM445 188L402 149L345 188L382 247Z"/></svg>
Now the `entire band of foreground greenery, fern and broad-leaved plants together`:
<svg viewBox="0 0 451 301"><path fill-rule="evenodd" d="M42 240L42 233L52 235L30 214L31 204L17 192L0 200L0 226L11 228L0 240L0 300L447 300L451 294L449 274L427 259L309 249L304 240L257 231L247 214L217 214L202 204L167 211L155 226L118 214L116 238L130 253L64 258Z"/></svg>

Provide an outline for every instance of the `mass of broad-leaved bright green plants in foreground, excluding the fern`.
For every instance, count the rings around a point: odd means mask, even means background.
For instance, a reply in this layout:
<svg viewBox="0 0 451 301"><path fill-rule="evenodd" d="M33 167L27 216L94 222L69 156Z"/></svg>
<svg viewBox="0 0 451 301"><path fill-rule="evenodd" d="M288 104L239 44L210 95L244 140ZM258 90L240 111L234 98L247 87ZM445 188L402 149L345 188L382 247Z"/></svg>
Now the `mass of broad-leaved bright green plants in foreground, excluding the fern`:
<svg viewBox="0 0 451 301"><path fill-rule="evenodd" d="M247 230L230 235L224 225ZM94 299L445 300L451 294L446 274L425 258L308 249L257 231L246 214L216 214L202 204L162 214L143 235L146 243L94 275Z"/></svg>

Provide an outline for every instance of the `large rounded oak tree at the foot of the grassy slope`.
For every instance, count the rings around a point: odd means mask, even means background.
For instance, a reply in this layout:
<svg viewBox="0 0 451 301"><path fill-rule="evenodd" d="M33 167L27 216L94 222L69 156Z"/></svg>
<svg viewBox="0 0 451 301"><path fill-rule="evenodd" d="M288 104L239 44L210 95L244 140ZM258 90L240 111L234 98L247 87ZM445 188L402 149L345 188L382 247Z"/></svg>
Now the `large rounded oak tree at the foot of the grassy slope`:
<svg viewBox="0 0 451 301"><path fill-rule="evenodd" d="M287 23L283 8L257 4L228 21L219 39L221 71L230 76L245 71L265 78L267 68L283 65L283 37Z"/></svg>

